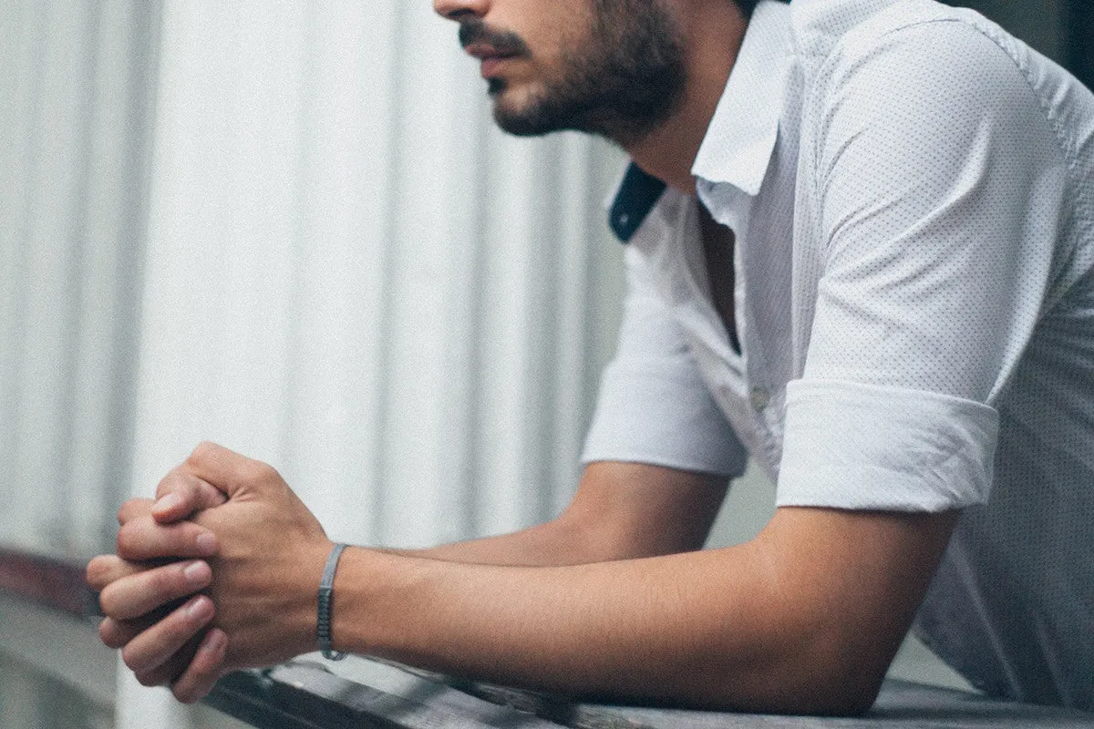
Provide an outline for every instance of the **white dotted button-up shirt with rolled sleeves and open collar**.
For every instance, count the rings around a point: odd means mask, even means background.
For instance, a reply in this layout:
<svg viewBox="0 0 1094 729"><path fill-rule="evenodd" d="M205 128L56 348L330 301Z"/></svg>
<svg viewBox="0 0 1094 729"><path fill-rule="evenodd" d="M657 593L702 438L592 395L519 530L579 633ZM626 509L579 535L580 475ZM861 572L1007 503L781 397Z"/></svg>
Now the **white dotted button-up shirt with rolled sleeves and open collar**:
<svg viewBox="0 0 1094 729"><path fill-rule="evenodd" d="M766 0L693 173L742 352L694 199L632 168L584 460L747 451L782 506L968 507L918 633L989 694L1094 709L1094 96L971 11Z"/></svg>

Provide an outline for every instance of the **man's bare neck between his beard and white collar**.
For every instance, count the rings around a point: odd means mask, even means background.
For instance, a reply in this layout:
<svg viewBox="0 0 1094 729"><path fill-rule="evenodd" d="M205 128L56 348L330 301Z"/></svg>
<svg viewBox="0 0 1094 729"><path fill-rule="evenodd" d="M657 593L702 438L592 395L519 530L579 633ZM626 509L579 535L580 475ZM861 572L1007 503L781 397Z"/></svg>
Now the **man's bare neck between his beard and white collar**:
<svg viewBox="0 0 1094 729"><path fill-rule="evenodd" d="M691 195L691 165L736 61L747 20L732 0L680 3L687 48L687 86L679 108L627 153L648 174Z"/></svg>

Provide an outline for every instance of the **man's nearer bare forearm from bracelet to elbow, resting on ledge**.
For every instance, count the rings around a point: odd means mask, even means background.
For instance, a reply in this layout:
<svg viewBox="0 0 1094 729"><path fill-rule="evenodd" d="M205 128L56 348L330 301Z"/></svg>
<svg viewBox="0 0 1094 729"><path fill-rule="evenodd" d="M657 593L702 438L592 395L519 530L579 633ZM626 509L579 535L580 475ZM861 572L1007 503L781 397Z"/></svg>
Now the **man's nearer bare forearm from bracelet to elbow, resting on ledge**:
<svg viewBox="0 0 1094 729"><path fill-rule="evenodd" d="M340 649L562 693L853 712L872 701L926 588L939 548L924 543L895 578L910 589L895 592L869 566L814 569L806 554L788 568L777 540L548 568L351 550L334 636Z"/></svg>

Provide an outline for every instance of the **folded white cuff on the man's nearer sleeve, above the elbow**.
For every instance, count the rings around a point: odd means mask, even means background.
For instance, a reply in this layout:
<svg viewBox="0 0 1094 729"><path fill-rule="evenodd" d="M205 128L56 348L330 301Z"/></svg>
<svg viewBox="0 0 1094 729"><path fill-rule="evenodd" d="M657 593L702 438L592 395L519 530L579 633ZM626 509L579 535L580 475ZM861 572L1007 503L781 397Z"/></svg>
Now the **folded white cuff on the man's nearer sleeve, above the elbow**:
<svg viewBox="0 0 1094 729"><path fill-rule="evenodd" d="M994 409L841 380L787 387L779 506L942 512L987 502Z"/></svg>

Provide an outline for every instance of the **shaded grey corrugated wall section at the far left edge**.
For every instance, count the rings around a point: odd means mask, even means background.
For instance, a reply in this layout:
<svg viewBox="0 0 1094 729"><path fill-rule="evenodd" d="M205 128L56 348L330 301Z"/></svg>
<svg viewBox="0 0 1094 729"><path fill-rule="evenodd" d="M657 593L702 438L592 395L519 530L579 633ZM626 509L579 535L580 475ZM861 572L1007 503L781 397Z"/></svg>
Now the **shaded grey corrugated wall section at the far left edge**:
<svg viewBox="0 0 1094 729"><path fill-rule="evenodd" d="M156 8L0 9L0 531L31 550L105 549L128 491Z"/></svg>

